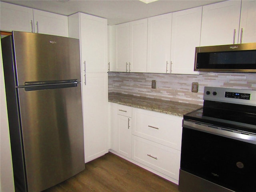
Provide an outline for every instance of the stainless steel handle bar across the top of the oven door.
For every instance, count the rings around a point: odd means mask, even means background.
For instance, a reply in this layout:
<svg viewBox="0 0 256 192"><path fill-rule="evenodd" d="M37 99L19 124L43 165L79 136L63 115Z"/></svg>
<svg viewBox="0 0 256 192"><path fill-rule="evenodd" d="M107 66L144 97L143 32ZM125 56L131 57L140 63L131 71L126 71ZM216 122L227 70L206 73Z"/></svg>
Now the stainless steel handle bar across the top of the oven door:
<svg viewBox="0 0 256 192"><path fill-rule="evenodd" d="M203 123L191 122L188 120L183 120L182 126L185 128L199 130L206 133L215 134L218 136L223 136L223 137L240 140L247 143L256 144L256 135L252 135L252 134L247 134L247 133L234 131L226 128L221 128L217 126L211 126Z"/></svg>

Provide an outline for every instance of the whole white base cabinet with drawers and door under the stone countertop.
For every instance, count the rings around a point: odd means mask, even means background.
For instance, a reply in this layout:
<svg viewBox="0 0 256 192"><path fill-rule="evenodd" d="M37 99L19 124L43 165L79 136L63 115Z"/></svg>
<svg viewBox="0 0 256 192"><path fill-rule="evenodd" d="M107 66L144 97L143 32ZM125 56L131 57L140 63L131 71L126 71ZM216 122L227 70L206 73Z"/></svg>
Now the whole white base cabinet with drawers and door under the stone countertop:
<svg viewBox="0 0 256 192"><path fill-rule="evenodd" d="M110 149L178 184L182 117L110 103Z"/></svg>

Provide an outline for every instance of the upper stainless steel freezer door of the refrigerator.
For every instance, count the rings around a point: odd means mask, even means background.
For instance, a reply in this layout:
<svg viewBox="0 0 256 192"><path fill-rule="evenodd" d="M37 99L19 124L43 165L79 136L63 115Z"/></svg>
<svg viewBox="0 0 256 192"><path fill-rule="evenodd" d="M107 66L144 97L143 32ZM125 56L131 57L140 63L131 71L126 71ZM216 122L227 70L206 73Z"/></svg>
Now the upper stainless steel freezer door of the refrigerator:
<svg viewBox="0 0 256 192"><path fill-rule="evenodd" d="M79 40L13 32L17 86L25 82L80 79Z"/></svg>

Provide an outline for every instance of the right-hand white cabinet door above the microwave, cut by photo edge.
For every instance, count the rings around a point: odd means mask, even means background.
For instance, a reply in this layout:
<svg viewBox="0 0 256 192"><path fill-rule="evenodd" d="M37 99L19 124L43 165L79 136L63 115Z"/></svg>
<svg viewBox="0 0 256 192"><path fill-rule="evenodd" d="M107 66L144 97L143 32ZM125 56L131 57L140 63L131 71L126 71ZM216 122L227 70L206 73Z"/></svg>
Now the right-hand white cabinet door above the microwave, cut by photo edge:
<svg viewBox="0 0 256 192"><path fill-rule="evenodd" d="M242 39L241 39L242 38ZM256 42L256 1L242 1L239 43Z"/></svg>

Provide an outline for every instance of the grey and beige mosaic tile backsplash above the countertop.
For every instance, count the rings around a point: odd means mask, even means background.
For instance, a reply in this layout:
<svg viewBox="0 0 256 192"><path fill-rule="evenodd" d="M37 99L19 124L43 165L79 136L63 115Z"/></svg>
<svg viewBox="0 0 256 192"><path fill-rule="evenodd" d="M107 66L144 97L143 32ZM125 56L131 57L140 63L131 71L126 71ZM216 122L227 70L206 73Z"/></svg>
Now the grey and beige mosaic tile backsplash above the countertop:
<svg viewBox="0 0 256 192"><path fill-rule="evenodd" d="M151 88L156 80L156 89ZM191 92L192 82L198 92ZM256 90L256 74L207 73L204 75L108 72L108 92L190 104L203 104L204 86Z"/></svg>

